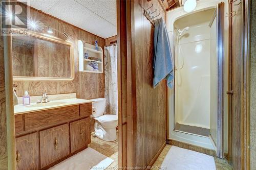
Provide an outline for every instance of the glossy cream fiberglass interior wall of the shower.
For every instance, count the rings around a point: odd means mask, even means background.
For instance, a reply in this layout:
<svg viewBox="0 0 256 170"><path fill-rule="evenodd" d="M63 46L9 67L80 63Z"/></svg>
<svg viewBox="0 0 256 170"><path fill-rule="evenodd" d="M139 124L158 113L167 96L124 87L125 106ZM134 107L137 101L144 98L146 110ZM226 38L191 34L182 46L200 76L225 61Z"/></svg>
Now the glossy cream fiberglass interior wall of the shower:
<svg viewBox="0 0 256 170"><path fill-rule="evenodd" d="M210 55L209 27L214 10L190 14L174 23L175 130L207 137L211 102L217 101L216 72L212 71L216 70L216 57ZM177 41L178 30L186 27L189 29Z"/></svg>

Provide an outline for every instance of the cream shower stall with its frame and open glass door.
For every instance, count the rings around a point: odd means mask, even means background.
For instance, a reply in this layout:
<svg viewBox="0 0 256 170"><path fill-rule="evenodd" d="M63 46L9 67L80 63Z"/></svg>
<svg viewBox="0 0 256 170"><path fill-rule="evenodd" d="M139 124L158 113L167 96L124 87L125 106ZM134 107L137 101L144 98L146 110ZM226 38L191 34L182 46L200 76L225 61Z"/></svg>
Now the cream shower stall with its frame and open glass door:
<svg viewBox="0 0 256 170"><path fill-rule="evenodd" d="M220 47L224 38L219 35L223 36L220 28L224 26L216 5L184 15L177 9L173 15L180 16L168 18L175 69L174 89L168 92L169 138L216 150L221 156L224 47Z"/></svg>

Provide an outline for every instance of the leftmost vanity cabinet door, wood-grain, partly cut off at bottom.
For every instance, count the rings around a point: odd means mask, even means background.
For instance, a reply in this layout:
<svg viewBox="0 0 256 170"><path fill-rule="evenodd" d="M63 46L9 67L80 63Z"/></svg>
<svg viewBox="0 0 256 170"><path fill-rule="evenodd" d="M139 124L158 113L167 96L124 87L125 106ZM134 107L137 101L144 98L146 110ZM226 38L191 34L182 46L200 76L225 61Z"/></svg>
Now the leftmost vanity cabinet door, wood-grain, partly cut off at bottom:
<svg viewBox="0 0 256 170"><path fill-rule="evenodd" d="M32 133L16 138L16 169L39 169L38 134Z"/></svg>

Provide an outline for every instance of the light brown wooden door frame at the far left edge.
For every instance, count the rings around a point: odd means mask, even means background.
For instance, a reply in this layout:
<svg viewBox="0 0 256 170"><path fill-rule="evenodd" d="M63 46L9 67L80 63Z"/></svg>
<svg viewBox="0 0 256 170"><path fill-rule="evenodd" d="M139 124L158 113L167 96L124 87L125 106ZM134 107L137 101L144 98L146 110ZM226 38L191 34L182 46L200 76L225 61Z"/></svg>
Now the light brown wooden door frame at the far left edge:
<svg viewBox="0 0 256 170"><path fill-rule="evenodd" d="M8 2L10 2L8 0ZM8 29L11 27L8 26ZM14 128L14 108L13 108L13 77L12 77L12 37L3 36L4 40L4 72L0 72L1 76L5 77L5 86L1 85L1 102L3 104L0 109L1 128L0 134L3 138L0 138L0 143L5 147L1 149L0 155L0 169L16 169L16 152L15 152L15 128Z"/></svg>

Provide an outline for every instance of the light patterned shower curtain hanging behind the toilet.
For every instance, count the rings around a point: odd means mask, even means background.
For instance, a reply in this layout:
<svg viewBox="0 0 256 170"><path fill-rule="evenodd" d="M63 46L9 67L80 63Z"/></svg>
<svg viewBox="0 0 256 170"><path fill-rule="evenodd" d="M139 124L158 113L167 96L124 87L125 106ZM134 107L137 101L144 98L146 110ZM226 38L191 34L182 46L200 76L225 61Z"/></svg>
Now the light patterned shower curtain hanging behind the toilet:
<svg viewBox="0 0 256 170"><path fill-rule="evenodd" d="M117 47L104 47L106 114L117 115Z"/></svg>

